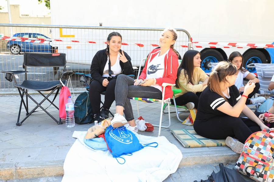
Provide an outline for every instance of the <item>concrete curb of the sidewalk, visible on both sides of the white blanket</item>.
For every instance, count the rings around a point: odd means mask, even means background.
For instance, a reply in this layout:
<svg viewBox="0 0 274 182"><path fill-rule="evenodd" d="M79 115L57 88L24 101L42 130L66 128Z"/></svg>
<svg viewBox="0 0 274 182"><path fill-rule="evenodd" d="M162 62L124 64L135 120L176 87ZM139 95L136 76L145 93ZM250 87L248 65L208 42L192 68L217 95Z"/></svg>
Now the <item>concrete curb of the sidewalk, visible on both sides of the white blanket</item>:
<svg viewBox="0 0 274 182"><path fill-rule="evenodd" d="M193 152L192 152L193 155ZM227 153L223 155L205 156L188 156L183 154L183 159L179 167L235 163L239 154ZM40 161L40 162L19 162L19 163L2 163L0 164L0 180L26 179L36 177L63 176L63 160L58 161Z"/></svg>

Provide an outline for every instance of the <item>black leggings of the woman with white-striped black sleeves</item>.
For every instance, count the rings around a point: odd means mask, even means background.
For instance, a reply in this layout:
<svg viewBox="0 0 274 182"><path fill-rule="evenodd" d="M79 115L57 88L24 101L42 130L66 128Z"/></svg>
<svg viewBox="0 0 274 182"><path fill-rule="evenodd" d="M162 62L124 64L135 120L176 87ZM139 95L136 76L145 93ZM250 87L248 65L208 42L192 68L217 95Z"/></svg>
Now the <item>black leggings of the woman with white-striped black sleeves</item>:
<svg viewBox="0 0 274 182"><path fill-rule="evenodd" d="M260 113L255 112L256 116ZM194 130L199 135L214 139L226 139L227 136L235 137L241 142L252 133L261 131L260 126L248 118L233 117L233 116L216 116L207 121L195 120Z"/></svg>

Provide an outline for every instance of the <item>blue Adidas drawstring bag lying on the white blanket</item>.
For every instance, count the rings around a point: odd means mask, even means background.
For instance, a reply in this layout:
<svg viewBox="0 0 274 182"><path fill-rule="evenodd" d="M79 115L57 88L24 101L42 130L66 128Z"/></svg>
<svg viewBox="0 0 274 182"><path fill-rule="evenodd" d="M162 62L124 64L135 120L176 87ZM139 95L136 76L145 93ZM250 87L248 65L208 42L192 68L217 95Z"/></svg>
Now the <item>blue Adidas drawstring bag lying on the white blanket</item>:
<svg viewBox="0 0 274 182"><path fill-rule="evenodd" d="M139 143L138 138L135 136L132 131L128 130L125 126L121 126L118 128L114 128L111 125L107 127L107 130L105 131L105 140L107 143L107 147L109 151L111 152L112 156L114 158L121 158L124 160L123 163L120 163L118 160L118 163L124 164L125 159L123 157L120 157L121 155L129 155L131 156L133 152L136 152L138 150L143 149L144 147L157 147L158 143L148 143L145 145L142 145ZM156 146L150 146L151 144L156 144Z"/></svg>

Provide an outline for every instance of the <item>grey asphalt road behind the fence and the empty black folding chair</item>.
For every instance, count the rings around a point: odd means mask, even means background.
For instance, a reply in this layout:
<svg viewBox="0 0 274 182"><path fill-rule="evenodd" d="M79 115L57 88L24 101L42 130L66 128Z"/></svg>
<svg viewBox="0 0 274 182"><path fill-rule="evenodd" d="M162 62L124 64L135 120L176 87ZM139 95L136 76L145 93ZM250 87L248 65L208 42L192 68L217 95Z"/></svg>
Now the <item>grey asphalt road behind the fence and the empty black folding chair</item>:
<svg viewBox="0 0 274 182"><path fill-rule="evenodd" d="M23 55L0 54L0 71L1 70L24 70ZM27 70L29 71L29 73L27 73L28 79L39 81L52 81L60 78L63 68L60 67L56 75L54 75L52 67L30 67ZM66 71L90 73L90 65L67 63ZM23 78L25 77L25 74L20 74L18 76L19 79L17 79L17 81L22 82L24 80ZM5 79L5 73L0 73L0 91L3 89L13 89L13 85L14 82L9 82ZM73 87L84 86L82 83L79 82L79 76L76 75L72 76L72 85Z"/></svg>

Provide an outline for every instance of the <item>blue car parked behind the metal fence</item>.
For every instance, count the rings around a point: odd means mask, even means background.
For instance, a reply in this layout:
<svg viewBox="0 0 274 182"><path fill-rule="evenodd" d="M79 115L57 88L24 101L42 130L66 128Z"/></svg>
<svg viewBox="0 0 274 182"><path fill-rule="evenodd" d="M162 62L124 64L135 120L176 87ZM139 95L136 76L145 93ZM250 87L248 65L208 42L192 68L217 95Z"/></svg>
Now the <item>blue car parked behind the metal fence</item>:
<svg viewBox="0 0 274 182"><path fill-rule="evenodd" d="M21 41L10 40L7 43L7 49L10 49L12 54L19 54L20 52L51 52L51 41L44 42L43 39L51 39L40 33L16 33L13 37L22 37ZM25 39L24 39L25 38ZM36 38L41 41L26 41L27 39ZM26 42L25 42L26 41Z"/></svg>

